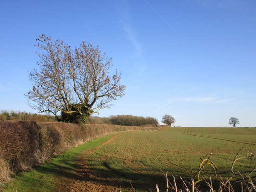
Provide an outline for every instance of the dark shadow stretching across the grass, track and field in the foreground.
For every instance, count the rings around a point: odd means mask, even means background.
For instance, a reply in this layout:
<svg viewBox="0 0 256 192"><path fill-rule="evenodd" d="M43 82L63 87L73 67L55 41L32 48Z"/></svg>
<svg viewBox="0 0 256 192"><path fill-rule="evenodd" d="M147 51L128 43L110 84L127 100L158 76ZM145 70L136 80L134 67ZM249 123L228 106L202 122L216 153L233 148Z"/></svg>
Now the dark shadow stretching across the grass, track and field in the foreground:
<svg viewBox="0 0 256 192"><path fill-rule="evenodd" d="M93 163L92 163L93 164ZM90 165L86 167L76 164L70 160L63 159L60 164L49 162L46 165L39 166L34 169L34 172L44 175L42 178L34 180L34 185L42 184L45 177L53 176L66 181L79 181L79 182L94 182L102 186L113 186L119 188L131 188L131 181L136 191L154 191L156 184L160 186L160 190L164 190L166 183L164 175L160 176L159 173L145 173L144 170L132 172L128 169L111 169L111 168L93 168ZM28 180L30 176L22 176L24 180ZM45 186L47 188L47 184ZM33 191L33 190L31 190ZM42 190L44 191L44 190ZM67 191L69 191L67 189Z"/></svg>

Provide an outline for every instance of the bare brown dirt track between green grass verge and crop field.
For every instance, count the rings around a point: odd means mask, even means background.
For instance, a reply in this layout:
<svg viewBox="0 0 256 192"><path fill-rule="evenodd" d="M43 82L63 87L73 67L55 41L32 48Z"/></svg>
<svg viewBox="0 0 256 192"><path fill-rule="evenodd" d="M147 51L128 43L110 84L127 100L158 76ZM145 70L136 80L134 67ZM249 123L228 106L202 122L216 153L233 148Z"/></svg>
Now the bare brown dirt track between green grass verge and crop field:
<svg viewBox="0 0 256 192"><path fill-rule="evenodd" d="M121 133L124 134L124 133ZM97 148L86 151L84 156L79 159L80 168L75 170L69 170L69 172L64 172L60 177L56 178L57 180L57 192L118 192L120 191L119 187L116 186L114 180L109 180L106 178L100 177L94 170L90 168L87 164L88 157L92 152L101 148L105 144L108 144L116 137L120 136L118 134L112 137L107 142L104 142L101 146Z"/></svg>

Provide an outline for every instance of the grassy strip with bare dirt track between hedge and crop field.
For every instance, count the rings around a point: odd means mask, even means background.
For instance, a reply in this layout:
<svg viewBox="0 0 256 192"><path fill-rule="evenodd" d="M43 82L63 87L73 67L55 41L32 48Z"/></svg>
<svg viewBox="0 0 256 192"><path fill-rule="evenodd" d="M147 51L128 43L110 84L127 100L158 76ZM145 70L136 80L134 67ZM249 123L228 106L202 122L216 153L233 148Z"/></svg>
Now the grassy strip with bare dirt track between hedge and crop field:
<svg viewBox="0 0 256 192"><path fill-rule="evenodd" d="M92 140L32 170L17 174L12 182L0 188L1 192L72 191L70 182L80 179L81 157L90 154L117 134Z"/></svg>

